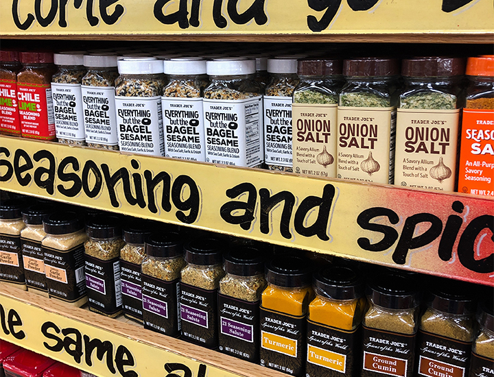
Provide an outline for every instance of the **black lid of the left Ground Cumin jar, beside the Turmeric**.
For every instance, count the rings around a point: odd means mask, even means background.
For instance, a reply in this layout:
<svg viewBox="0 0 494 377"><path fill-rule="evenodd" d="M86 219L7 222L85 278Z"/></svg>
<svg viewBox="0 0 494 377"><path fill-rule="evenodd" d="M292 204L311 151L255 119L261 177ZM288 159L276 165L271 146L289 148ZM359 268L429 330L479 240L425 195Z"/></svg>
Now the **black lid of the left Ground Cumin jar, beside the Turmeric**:
<svg viewBox="0 0 494 377"><path fill-rule="evenodd" d="M369 284L370 299L377 305L388 309L408 309L418 305L414 280L395 273L384 273Z"/></svg>

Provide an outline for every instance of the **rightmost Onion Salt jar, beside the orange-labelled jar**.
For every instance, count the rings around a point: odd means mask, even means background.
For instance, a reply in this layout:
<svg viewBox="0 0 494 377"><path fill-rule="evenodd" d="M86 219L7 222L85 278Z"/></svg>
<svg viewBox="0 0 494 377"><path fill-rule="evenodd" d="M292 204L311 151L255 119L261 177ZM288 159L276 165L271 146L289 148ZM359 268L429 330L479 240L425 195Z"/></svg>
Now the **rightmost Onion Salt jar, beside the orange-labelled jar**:
<svg viewBox="0 0 494 377"><path fill-rule="evenodd" d="M454 191L464 73L462 58L403 59L395 184Z"/></svg>

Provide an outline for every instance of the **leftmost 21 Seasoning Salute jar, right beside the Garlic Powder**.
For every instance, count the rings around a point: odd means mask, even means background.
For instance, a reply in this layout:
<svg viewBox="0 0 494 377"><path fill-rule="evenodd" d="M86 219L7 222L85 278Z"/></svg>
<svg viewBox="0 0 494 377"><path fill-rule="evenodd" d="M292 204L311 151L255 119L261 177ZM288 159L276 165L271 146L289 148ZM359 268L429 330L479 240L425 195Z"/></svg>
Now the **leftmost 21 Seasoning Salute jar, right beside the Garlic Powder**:
<svg viewBox="0 0 494 377"><path fill-rule="evenodd" d="M121 313L120 219L102 216L86 225L89 240L84 243L86 291L89 310L115 318Z"/></svg>

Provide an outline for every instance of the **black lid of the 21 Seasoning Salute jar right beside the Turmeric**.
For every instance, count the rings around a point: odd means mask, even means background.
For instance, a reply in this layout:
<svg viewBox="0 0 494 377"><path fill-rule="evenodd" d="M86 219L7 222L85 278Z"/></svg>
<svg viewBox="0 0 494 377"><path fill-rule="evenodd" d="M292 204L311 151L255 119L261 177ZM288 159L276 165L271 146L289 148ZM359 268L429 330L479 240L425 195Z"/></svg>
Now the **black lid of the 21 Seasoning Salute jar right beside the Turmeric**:
<svg viewBox="0 0 494 377"><path fill-rule="evenodd" d="M224 255L226 273L237 276L256 276L264 272L263 252L255 247L239 247Z"/></svg>

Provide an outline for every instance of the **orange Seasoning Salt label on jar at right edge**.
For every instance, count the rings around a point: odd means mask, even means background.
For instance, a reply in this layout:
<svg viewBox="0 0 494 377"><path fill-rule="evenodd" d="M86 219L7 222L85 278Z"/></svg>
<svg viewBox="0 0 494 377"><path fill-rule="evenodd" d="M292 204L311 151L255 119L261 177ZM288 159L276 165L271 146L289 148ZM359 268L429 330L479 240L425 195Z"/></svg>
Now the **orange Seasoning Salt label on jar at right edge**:
<svg viewBox="0 0 494 377"><path fill-rule="evenodd" d="M494 196L494 110L463 109L458 191Z"/></svg>

